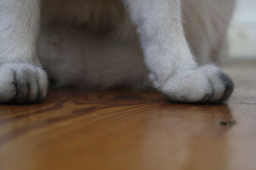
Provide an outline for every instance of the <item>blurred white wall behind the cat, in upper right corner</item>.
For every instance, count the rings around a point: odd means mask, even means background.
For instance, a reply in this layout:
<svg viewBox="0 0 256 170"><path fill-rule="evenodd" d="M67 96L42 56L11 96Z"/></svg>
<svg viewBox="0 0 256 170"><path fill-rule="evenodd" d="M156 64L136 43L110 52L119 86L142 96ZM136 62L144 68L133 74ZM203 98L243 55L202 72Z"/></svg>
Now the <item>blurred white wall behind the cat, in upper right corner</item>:
<svg viewBox="0 0 256 170"><path fill-rule="evenodd" d="M237 0L228 32L228 60L256 60L256 0Z"/></svg>

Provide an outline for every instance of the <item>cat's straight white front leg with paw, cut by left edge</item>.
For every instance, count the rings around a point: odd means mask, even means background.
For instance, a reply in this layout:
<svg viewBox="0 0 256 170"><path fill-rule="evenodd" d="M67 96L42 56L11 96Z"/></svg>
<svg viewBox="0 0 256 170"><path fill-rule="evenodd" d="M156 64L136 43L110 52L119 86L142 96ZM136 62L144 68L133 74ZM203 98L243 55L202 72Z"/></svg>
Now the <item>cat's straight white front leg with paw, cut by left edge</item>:
<svg viewBox="0 0 256 170"><path fill-rule="evenodd" d="M0 1L0 103L35 103L47 92L36 43L40 0Z"/></svg>

